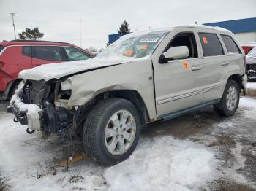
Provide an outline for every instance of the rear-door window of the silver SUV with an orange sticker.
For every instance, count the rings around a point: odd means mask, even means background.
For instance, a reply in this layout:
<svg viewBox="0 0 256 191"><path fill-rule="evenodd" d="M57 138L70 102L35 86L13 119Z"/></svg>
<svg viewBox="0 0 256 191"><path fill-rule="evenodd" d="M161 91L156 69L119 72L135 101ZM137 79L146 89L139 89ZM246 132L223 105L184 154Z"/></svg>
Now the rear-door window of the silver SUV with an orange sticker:
<svg viewBox="0 0 256 191"><path fill-rule="evenodd" d="M216 34L199 33L203 56L224 55L222 44Z"/></svg>

